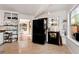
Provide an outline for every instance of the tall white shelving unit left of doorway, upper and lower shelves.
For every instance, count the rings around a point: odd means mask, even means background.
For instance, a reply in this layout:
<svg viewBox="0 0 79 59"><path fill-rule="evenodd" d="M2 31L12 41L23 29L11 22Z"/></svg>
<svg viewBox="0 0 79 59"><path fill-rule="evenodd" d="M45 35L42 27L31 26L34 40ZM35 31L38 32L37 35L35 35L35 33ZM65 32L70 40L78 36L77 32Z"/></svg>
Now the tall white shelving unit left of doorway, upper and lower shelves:
<svg viewBox="0 0 79 59"><path fill-rule="evenodd" d="M18 14L17 13L4 13L4 41L11 40L11 42L16 41L18 39ZM9 34L11 36L9 37Z"/></svg>

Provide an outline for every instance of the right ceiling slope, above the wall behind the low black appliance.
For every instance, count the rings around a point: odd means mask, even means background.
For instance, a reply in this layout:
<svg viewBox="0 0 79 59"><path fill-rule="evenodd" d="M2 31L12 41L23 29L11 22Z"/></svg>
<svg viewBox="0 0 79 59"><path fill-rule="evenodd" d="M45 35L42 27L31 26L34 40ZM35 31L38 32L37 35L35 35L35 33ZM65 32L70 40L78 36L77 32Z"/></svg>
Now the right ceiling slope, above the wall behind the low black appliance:
<svg viewBox="0 0 79 59"><path fill-rule="evenodd" d="M48 11L54 12L54 11L62 11L62 10L69 10L73 7L74 4L54 4L50 5Z"/></svg>

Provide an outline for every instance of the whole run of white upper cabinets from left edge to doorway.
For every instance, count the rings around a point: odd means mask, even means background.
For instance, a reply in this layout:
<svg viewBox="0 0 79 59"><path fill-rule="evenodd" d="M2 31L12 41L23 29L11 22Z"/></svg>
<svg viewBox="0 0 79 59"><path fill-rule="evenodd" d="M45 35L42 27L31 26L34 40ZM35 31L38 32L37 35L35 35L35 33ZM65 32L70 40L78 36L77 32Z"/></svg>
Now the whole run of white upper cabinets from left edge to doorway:
<svg viewBox="0 0 79 59"><path fill-rule="evenodd" d="M18 13L17 12L0 10L0 26L8 25L8 24L15 25L15 23L17 24L17 22L18 22Z"/></svg>

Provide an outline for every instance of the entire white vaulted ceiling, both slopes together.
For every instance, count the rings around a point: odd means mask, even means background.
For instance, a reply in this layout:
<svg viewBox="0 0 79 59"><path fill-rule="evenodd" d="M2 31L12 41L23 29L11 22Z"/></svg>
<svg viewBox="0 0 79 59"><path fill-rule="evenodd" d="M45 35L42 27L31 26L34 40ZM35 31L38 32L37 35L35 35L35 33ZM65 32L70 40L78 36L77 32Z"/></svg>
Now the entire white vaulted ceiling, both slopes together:
<svg viewBox="0 0 79 59"><path fill-rule="evenodd" d="M73 4L0 4L0 9L36 16L42 12L69 10L72 6Z"/></svg>

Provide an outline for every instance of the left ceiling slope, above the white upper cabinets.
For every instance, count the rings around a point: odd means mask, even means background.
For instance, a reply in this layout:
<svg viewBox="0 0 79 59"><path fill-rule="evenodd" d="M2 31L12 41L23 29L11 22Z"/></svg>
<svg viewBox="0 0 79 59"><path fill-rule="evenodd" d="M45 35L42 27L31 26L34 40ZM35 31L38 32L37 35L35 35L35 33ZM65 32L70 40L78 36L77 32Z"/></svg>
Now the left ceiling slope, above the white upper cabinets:
<svg viewBox="0 0 79 59"><path fill-rule="evenodd" d="M33 15L40 8L40 5L29 4L4 4L0 5L2 10L17 11L24 14Z"/></svg>

